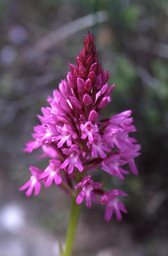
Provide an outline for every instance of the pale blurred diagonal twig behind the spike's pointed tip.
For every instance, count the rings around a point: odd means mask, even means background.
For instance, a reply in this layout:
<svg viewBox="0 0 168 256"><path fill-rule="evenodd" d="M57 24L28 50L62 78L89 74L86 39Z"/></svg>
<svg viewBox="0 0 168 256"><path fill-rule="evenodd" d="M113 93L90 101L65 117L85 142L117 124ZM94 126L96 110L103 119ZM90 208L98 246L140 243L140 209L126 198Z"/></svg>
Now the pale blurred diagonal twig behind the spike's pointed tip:
<svg viewBox="0 0 168 256"><path fill-rule="evenodd" d="M28 50L26 52L26 56L32 60L45 51L51 49L55 44L59 43L61 40L67 38L68 36L71 36L84 28L92 27L93 25L104 22L106 20L108 20L108 12L106 11L99 11L86 15L77 20L73 20L39 39L33 51Z"/></svg>

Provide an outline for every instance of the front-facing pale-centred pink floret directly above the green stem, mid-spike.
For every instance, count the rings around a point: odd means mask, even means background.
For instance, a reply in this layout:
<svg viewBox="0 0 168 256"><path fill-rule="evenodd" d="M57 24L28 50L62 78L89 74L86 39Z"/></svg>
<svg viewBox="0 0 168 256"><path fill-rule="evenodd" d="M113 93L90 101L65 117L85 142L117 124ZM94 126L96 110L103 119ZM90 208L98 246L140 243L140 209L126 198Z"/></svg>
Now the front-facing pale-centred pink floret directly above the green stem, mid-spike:
<svg viewBox="0 0 168 256"><path fill-rule="evenodd" d="M61 169L64 169L69 164L68 170L67 170L68 174L71 174L73 172L74 167L77 167L79 172L83 171L83 165L80 160L80 155L85 157L85 152L80 150L80 148L76 144L73 144L71 148L63 148L62 152L65 155L70 155L70 156L68 156L68 158L63 162L63 164L61 164L60 166Z"/></svg>

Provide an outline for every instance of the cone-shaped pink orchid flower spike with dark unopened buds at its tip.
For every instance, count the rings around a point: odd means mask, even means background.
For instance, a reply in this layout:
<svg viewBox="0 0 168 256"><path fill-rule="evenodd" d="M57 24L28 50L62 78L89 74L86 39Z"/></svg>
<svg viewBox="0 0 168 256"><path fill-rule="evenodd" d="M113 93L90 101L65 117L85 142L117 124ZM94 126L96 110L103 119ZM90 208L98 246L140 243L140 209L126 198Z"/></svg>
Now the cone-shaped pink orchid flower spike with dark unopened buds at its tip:
<svg viewBox="0 0 168 256"><path fill-rule="evenodd" d="M118 176L124 180L129 172L123 165L128 164L131 172L138 174L134 158L139 156L140 145L128 136L135 132L131 110L99 120L101 109L110 102L114 85L108 86L109 73L103 71L98 62L93 36L88 32L84 37L83 50L76 56L76 66L69 64L67 80L61 80L59 90L48 97L50 107L42 108L38 115L40 125L34 127L33 140L26 144L24 151L31 153L41 147L49 157L49 165L43 171L31 166L31 178L20 190L33 188L38 195L41 181L48 188L52 183L62 188L67 195L76 195L76 203L91 199L106 205L105 219L111 219L113 211L121 220L120 211L127 212L117 196L127 196L120 190L104 191L101 182L93 182L91 174L95 168L101 172ZM88 173L89 172L89 173ZM76 192L75 192L76 191Z"/></svg>

